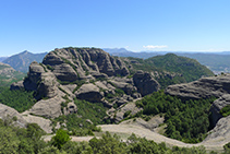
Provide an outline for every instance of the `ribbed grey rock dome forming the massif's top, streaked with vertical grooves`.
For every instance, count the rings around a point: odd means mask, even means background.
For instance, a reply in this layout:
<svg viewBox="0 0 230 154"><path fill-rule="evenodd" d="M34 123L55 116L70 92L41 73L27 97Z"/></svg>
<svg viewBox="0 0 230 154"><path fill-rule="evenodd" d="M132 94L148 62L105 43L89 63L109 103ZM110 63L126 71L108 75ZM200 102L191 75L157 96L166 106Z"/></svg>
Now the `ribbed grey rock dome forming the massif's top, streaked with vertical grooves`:
<svg viewBox="0 0 230 154"><path fill-rule="evenodd" d="M49 52L43 61L53 68L53 73L61 81L75 81L93 76L129 74L128 68L119 58L110 57L101 49L68 48ZM104 74L104 75L105 75Z"/></svg>

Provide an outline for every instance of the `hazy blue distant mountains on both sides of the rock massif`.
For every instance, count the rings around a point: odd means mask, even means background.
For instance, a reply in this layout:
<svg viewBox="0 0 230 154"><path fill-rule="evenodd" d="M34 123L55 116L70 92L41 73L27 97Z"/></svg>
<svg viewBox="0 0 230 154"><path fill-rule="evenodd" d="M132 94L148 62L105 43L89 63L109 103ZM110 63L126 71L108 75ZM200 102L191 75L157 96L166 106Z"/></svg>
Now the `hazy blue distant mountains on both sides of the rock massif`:
<svg viewBox="0 0 230 154"><path fill-rule="evenodd" d="M155 56L162 56L172 51L141 51L134 52L126 50L125 48L102 48L105 51L109 52L111 56L118 57L134 57L147 59ZM28 66L33 61L38 63L43 61L44 57L48 52L43 54L32 54L27 50L20 52L11 57L0 57L0 62L10 64L16 71L26 73L28 71ZM230 72L230 51L223 52L173 52L178 56L183 56L197 60L199 63L206 66L214 73L219 74L221 72Z"/></svg>

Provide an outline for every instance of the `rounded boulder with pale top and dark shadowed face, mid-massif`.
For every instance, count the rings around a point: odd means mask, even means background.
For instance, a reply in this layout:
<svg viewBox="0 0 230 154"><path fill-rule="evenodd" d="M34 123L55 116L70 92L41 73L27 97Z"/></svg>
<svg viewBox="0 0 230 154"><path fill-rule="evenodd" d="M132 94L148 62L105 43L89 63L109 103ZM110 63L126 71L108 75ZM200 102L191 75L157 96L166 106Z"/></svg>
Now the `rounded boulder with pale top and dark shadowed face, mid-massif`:
<svg viewBox="0 0 230 154"><path fill-rule="evenodd" d="M75 95L80 99L85 99L88 102L101 102L104 97L104 93L99 91L99 87L94 85L93 83L83 84L80 90L75 92Z"/></svg>

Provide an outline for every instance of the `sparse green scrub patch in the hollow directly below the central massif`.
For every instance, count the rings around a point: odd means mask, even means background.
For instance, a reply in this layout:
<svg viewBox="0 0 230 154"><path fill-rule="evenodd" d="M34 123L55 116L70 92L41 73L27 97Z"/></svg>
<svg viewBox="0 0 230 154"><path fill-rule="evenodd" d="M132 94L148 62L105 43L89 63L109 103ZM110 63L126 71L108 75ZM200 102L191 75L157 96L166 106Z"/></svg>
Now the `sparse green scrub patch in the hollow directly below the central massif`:
<svg viewBox="0 0 230 154"><path fill-rule="evenodd" d="M98 131L97 125L104 123L102 119L107 116L107 108L99 103L89 103L75 99L77 114L62 115L53 120L55 123L66 123L68 130L74 135L92 134L92 131ZM90 121L89 121L90 120Z"/></svg>

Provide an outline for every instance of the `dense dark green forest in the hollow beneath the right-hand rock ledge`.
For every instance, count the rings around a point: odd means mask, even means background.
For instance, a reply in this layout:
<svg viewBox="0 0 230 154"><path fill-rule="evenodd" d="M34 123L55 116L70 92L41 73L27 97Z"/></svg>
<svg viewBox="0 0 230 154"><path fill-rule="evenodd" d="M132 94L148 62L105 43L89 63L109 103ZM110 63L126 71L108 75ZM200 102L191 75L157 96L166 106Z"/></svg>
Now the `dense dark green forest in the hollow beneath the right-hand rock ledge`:
<svg viewBox="0 0 230 154"><path fill-rule="evenodd" d="M167 137L187 143L197 143L204 140L210 129L209 109L214 100L215 98L182 100L159 91L136 102L138 107L144 108L136 116L154 116L162 112L168 126Z"/></svg>

